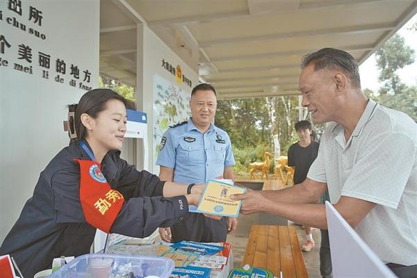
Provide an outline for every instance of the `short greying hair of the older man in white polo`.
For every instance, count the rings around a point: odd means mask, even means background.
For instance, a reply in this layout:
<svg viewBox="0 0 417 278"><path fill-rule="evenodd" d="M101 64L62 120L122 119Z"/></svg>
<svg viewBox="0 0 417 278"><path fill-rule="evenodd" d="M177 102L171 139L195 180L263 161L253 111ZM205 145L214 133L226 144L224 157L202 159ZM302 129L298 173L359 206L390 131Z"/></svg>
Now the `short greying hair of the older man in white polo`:
<svg viewBox="0 0 417 278"><path fill-rule="evenodd" d="M302 57L301 68L314 63L314 71L322 69L341 70L347 74L352 81L352 85L361 88L361 77L359 67L353 56L346 51L334 48L323 48Z"/></svg>

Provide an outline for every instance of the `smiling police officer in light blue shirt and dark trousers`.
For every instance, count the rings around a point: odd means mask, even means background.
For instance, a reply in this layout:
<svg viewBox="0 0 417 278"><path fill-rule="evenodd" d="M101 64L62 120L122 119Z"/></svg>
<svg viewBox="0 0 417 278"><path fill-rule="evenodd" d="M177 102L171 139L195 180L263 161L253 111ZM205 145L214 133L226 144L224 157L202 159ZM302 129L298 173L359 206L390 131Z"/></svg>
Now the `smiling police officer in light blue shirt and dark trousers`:
<svg viewBox="0 0 417 278"><path fill-rule="evenodd" d="M216 106L212 85L202 83L193 88L190 120L170 127L161 139L156 161L161 180L192 184L219 177L233 179L232 166L236 163L229 136L212 123ZM189 218L171 228L159 228L159 234L167 242L222 242L236 226L236 218L213 220L190 213Z"/></svg>

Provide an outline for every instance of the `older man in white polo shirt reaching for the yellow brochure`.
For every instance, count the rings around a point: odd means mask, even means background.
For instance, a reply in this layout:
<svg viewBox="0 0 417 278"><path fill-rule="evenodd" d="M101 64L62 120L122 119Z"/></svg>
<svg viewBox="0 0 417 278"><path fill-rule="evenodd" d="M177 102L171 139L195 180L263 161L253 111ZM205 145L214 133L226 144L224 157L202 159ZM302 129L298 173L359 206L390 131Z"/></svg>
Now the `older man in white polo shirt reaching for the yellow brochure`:
<svg viewBox="0 0 417 278"><path fill-rule="evenodd" d="M398 277L417 277L417 124L367 99L354 58L338 49L304 56L299 90L314 122L328 122L307 179L249 191L242 212L265 211L327 229L330 200ZM411 105L411 104L410 104Z"/></svg>

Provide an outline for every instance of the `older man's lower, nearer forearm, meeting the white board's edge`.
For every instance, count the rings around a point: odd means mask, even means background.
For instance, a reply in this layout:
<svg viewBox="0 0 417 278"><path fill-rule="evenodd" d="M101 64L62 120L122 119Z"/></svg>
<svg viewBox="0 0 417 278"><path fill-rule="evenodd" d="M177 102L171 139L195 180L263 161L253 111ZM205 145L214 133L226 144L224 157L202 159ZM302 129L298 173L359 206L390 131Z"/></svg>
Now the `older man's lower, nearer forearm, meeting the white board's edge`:
<svg viewBox="0 0 417 278"><path fill-rule="evenodd" d="M296 223L309 227L327 229L326 210L324 204L288 204L268 200L262 204L262 211L279 215Z"/></svg>

